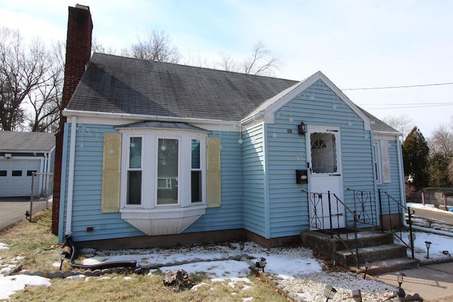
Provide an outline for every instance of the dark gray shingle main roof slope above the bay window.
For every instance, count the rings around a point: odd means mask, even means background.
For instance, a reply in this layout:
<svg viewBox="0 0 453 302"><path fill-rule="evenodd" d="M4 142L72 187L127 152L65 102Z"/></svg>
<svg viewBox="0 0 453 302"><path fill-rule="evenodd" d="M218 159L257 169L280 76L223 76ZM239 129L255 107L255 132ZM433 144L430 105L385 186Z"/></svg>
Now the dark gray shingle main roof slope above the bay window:
<svg viewBox="0 0 453 302"><path fill-rule="evenodd" d="M238 121L294 83L95 53L67 108Z"/></svg>

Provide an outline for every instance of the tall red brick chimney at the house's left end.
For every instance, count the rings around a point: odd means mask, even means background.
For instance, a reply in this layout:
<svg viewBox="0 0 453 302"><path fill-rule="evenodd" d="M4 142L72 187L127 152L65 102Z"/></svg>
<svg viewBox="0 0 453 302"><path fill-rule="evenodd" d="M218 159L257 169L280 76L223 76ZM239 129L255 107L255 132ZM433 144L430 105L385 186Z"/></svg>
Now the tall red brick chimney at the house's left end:
<svg viewBox="0 0 453 302"><path fill-rule="evenodd" d="M69 6L62 110L67 107L72 93L74 93L82 74L84 74L85 66L91 57L92 31L93 21L91 21L90 8L79 4L75 7ZM65 122L66 117L61 115L59 132L55 134L55 171L52 202L52 233L55 235L58 234L59 224L59 201L62 181L63 127Z"/></svg>

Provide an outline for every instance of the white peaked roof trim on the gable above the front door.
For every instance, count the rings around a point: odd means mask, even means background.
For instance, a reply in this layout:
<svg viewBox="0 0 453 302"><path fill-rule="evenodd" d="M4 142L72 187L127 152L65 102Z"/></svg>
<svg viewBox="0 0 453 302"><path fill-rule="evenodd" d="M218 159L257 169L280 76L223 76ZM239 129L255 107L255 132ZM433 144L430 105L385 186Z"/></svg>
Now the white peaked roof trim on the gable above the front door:
<svg viewBox="0 0 453 302"><path fill-rule="evenodd" d="M277 110L282 108L286 103L306 90L306 88L309 88L311 85L316 83L316 81L318 81L319 79L326 83L326 85L331 88L332 91L336 93L336 95L338 95L338 97L341 98L341 100L343 100L343 102L345 102L352 111L354 111L359 117L362 118L365 124L365 130L369 131L371 129L371 120L369 120L367 115L365 115L365 113L362 112L362 110L360 110L357 105L352 103L352 100L350 100L343 93L343 91L340 91L340 89L321 71L316 72L316 74L309 76L304 81L300 81L299 83L296 83L295 85L285 89L285 91L282 91L281 93L275 95L273 98L270 98L265 103L263 103L263 105L252 112L251 115L248 115L248 117L241 120L239 123L243 124L251 122L253 120L263 119L265 122L273 124L275 112Z"/></svg>

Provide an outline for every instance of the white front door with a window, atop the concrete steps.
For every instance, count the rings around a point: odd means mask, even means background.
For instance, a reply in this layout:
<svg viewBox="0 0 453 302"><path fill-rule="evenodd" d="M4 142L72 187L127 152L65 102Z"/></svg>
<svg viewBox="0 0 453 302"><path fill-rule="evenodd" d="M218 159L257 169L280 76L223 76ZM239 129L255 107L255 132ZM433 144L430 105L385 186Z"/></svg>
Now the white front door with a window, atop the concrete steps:
<svg viewBox="0 0 453 302"><path fill-rule="evenodd" d="M344 228L345 209L333 195L343 202L339 129L309 127L306 133L306 146L310 226L321 229Z"/></svg>

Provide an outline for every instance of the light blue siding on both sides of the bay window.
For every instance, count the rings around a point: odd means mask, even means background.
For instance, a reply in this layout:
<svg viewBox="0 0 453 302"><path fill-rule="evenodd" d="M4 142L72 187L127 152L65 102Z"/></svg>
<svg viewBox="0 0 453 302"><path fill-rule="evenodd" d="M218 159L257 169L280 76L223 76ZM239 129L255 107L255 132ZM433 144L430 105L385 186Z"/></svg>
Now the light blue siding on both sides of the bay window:
<svg viewBox="0 0 453 302"><path fill-rule="evenodd" d="M119 213L101 214L101 187L103 165L103 132L115 132L113 127L78 125L74 166L74 200L72 233L74 240L99 240L142 236L144 233L120 219ZM68 127L68 138L70 127ZM216 135L213 134L215 137ZM217 134L221 138L222 207L207 209L185 232L215 231L242 228L241 205L241 145L238 133ZM69 139L67 139L69 150ZM67 151L68 152L68 151ZM69 153L66 165L69 165ZM65 177L67 194L67 175ZM62 225L66 226L66 200ZM87 227L93 232L86 232ZM64 230L66 231L66 230Z"/></svg>

